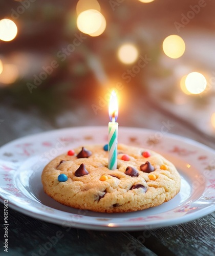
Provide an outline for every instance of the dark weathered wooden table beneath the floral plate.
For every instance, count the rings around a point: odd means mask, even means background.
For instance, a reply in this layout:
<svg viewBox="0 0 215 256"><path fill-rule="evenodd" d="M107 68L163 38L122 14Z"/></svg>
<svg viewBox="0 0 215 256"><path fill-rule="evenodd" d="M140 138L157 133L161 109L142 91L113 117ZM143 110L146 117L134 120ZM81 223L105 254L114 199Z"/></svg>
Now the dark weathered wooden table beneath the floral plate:
<svg viewBox="0 0 215 256"><path fill-rule="evenodd" d="M0 104L0 145L15 138L61 127L82 125L106 125L106 117L92 114L86 105L75 107L50 117L30 107L18 109L8 101ZM193 131L192 126L177 117L163 112L152 102L133 102L128 115L120 117L122 126L145 127L159 130L162 121L174 123L171 133L183 135L215 148L215 142L207 135ZM135 115L132 112L135 111ZM131 115L130 115L131 114ZM81 118L79 118L81 116ZM127 116L129 117L129 125ZM142 117L142 118L139 118ZM152 118L153 117L153 118ZM10 205L9 205L10 206ZM3 204L1 224L3 224ZM177 226L141 231L93 231L65 227L28 217L9 207L9 250L3 250L1 228L1 255L214 255L215 214ZM60 237L54 240L56 235ZM53 242L50 247L50 239Z"/></svg>

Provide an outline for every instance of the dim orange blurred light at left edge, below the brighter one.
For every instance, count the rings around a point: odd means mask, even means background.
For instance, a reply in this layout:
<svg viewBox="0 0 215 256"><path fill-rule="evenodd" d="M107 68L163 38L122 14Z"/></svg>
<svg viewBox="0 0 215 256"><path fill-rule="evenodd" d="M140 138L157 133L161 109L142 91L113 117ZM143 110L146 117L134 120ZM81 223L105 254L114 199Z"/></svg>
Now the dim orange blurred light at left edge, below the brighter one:
<svg viewBox="0 0 215 256"><path fill-rule="evenodd" d="M4 64L4 69L2 74L0 75L0 84L10 84L15 82L15 80L18 78L18 69L13 64ZM1 87L1 85L0 85Z"/></svg>

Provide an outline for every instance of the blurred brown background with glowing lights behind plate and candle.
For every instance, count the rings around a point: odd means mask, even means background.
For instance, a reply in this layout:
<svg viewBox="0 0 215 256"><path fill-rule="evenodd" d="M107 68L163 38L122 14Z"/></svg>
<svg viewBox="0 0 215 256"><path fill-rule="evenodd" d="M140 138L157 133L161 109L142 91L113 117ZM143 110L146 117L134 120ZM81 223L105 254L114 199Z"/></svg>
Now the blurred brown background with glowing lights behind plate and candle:
<svg viewBox="0 0 215 256"><path fill-rule="evenodd" d="M213 139L214 8L210 0L1 0L1 144L107 125L113 89L120 125L159 130L166 115Z"/></svg>

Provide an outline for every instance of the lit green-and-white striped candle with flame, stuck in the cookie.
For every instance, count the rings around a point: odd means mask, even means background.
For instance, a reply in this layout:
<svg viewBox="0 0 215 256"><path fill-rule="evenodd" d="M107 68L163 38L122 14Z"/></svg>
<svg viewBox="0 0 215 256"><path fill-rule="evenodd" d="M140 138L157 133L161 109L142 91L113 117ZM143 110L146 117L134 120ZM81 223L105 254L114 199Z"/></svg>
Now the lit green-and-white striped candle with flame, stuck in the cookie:
<svg viewBox="0 0 215 256"><path fill-rule="evenodd" d="M108 168L114 170L117 168L117 135L118 123L116 122L118 115L118 103L115 91L111 93L109 104L109 116L112 122L109 122L108 136Z"/></svg>

